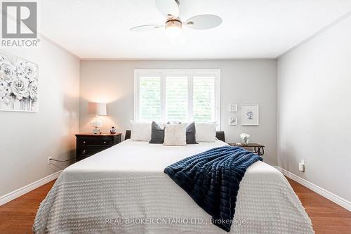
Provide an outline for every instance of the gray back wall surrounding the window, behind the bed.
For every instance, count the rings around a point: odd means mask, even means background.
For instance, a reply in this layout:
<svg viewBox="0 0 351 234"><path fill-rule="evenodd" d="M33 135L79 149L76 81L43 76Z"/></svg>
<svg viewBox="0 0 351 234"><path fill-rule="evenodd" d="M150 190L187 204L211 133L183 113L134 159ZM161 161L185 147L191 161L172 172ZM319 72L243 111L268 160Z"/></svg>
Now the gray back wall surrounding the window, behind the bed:
<svg viewBox="0 0 351 234"><path fill-rule="evenodd" d="M135 68L220 68L221 128L227 142L239 142L239 134L251 134L251 141L266 146L264 160L277 164L277 60L82 60L80 70L80 131L89 132L88 101L105 102L107 117L101 117L103 131L112 125L119 131L130 129L133 119L133 70ZM230 103L239 112L230 113ZM241 126L241 104L260 105L260 125ZM238 126L229 126L237 116Z"/></svg>

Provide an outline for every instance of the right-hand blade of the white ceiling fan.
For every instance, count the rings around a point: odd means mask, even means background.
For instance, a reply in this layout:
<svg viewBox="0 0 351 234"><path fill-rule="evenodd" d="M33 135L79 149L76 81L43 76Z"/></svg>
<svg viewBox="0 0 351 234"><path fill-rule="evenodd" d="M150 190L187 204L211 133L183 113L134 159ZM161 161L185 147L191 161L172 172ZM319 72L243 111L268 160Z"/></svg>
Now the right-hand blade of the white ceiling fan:
<svg viewBox="0 0 351 234"><path fill-rule="evenodd" d="M221 23L222 18L218 15L196 15L185 21L185 25L193 30L209 30L210 28L217 27Z"/></svg>

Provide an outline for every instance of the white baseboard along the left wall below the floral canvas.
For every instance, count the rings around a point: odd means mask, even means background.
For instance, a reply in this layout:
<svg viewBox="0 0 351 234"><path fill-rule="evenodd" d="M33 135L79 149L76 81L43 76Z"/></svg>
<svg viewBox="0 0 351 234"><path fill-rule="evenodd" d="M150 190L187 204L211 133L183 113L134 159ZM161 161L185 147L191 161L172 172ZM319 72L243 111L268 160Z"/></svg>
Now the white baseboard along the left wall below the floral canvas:
<svg viewBox="0 0 351 234"><path fill-rule="evenodd" d="M0 206L14 200L17 197L20 197L22 195L25 195L26 193L29 193L30 191L39 188L40 186L44 186L44 184L53 181L55 178L58 178L60 176L62 170L55 172L54 174L48 175L44 178L39 179L38 181L34 181L33 183L29 183L27 186L23 186L22 188L18 188L18 190L14 190L11 193L5 194L0 197Z"/></svg>

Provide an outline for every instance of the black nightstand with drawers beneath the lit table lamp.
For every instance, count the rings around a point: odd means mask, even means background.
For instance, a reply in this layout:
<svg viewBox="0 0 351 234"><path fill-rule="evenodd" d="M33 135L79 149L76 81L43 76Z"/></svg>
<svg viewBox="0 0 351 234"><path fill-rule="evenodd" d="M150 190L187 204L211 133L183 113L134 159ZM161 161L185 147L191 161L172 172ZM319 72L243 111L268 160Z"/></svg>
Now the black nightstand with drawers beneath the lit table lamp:
<svg viewBox="0 0 351 234"><path fill-rule="evenodd" d="M121 142L121 134L76 134L77 152L76 161L106 150Z"/></svg>

